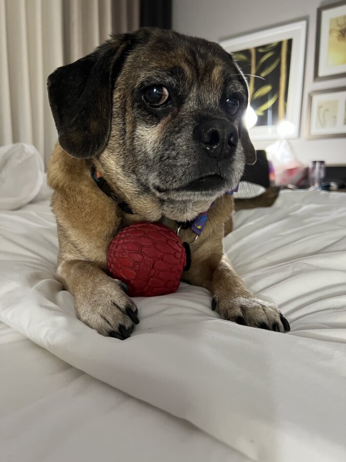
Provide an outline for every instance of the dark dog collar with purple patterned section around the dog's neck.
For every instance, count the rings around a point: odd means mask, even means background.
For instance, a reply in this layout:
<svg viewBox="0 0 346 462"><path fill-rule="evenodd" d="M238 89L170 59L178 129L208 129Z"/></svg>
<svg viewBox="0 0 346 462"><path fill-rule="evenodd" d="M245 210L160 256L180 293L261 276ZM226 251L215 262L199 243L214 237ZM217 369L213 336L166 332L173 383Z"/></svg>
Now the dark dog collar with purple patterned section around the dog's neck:
<svg viewBox="0 0 346 462"><path fill-rule="evenodd" d="M131 210L129 205L122 201L112 190L112 188L109 186L107 181L101 177L100 173L96 170L95 167L92 168L91 170L91 175L97 184L97 186L111 199L113 199L114 202L117 202L121 210L125 211L126 214L134 215L134 212ZM239 186L239 185L238 185ZM234 189L230 189L229 191L226 191L225 194L227 196L233 196L234 192L237 192L238 186L236 186ZM214 205L215 201L211 204L211 207ZM208 220L208 210L205 212L197 215L196 218L194 218L191 221L186 221L186 222L181 222L177 221L177 225L179 229L188 229L190 228L193 233L195 233L198 236L200 236L203 232L203 229L205 228ZM197 239L196 237L196 239Z"/></svg>

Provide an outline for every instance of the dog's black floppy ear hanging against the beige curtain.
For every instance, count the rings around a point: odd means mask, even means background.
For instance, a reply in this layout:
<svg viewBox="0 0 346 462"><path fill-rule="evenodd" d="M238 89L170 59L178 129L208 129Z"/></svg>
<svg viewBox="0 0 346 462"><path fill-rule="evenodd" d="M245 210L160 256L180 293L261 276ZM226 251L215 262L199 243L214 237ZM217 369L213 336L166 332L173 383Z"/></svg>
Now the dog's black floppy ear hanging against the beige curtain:
<svg viewBox="0 0 346 462"><path fill-rule="evenodd" d="M113 35L92 53L59 67L48 77L59 144L71 156L87 159L105 148L111 129L114 82L134 36Z"/></svg>

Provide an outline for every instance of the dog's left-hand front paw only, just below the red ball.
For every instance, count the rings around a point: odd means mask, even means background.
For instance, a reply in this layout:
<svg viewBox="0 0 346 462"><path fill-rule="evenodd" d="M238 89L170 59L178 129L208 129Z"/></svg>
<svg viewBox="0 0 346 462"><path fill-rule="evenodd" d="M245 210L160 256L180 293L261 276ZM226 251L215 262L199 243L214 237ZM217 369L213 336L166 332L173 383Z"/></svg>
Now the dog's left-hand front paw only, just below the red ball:
<svg viewBox="0 0 346 462"><path fill-rule="evenodd" d="M126 285L108 276L74 294L77 318L99 334L125 340L138 324L138 309L125 294Z"/></svg>

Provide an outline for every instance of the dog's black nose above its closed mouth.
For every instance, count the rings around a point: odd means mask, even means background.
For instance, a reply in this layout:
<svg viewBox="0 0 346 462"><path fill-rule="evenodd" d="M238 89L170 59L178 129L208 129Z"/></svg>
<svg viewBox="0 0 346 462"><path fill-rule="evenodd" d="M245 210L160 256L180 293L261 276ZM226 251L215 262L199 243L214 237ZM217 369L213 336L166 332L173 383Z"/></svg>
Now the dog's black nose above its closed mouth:
<svg viewBox="0 0 346 462"><path fill-rule="evenodd" d="M228 120L209 120L197 125L193 131L196 141L215 158L226 157L238 144L238 130Z"/></svg>

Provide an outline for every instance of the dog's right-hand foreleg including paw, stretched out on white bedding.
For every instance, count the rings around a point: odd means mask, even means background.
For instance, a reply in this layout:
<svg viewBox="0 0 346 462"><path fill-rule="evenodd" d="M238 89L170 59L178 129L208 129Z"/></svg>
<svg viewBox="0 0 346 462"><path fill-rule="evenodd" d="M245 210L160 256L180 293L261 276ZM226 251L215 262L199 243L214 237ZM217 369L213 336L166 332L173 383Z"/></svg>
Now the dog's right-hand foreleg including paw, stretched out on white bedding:
<svg viewBox="0 0 346 462"><path fill-rule="evenodd" d="M207 239L192 256L186 279L206 287L212 294L212 309L221 319L278 332L290 330L286 318L273 303L256 298L222 252L221 239Z"/></svg>

